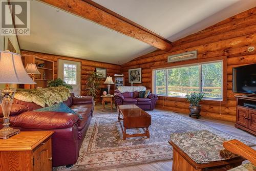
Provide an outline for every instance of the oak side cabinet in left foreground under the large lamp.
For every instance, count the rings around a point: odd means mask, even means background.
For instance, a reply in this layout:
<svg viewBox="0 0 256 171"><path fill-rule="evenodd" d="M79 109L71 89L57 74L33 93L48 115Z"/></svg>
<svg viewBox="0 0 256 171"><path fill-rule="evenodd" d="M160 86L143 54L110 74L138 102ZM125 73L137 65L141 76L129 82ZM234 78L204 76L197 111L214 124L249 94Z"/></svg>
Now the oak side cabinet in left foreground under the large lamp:
<svg viewBox="0 0 256 171"><path fill-rule="evenodd" d="M52 131L20 132L0 139L0 170L52 170Z"/></svg>

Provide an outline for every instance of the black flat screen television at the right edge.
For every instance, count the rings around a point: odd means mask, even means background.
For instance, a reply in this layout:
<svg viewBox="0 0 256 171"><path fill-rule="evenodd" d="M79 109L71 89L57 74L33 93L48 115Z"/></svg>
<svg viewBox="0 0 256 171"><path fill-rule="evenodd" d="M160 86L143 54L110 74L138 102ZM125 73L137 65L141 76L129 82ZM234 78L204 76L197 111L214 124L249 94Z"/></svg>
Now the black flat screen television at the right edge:
<svg viewBox="0 0 256 171"><path fill-rule="evenodd" d="M233 68L233 92L256 94L256 63Z"/></svg>

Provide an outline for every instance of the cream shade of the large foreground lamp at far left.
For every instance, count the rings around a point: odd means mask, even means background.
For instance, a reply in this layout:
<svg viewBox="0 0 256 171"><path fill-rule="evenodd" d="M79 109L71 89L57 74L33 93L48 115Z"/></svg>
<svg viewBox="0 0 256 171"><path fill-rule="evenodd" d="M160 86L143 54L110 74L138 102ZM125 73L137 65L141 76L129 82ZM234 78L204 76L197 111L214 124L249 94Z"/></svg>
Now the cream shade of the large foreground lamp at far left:
<svg viewBox="0 0 256 171"><path fill-rule="evenodd" d="M22 57L3 51L0 51L0 83L36 84L27 74Z"/></svg>

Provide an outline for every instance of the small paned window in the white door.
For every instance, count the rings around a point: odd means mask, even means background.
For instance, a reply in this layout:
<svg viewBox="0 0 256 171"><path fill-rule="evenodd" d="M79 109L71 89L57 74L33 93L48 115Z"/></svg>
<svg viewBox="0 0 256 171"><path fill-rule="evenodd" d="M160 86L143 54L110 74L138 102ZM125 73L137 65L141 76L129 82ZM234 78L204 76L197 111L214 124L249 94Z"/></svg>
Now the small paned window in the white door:
<svg viewBox="0 0 256 171"><path fill-rule="evenodd" d="M77 65L64 63L63 64L63 79L67 84L76 84Z"/></svg>

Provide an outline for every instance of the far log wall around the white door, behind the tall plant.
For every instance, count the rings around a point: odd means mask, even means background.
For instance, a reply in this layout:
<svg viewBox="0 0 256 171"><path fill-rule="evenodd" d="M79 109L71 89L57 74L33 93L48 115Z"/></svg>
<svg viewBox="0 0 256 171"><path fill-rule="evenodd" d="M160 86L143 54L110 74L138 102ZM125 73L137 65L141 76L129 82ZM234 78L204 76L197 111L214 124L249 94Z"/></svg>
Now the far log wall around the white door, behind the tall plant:
<svg viewBox="0 0 256 171"><path fill-rule="evenodd" d="M58 56L58 55L51 55L46 53L38 53L38 52L31 52L31 51L21 51L22 56L36 56L48 60L54 61L54 79L58 77L58 59L64 59L64 60L72 60L72 61L78 61L81 62L81 95L85 96L87 95L86 89L86 82L88 74L92 71L95 71L96 68L105 68L107 76L112 76L114 78L114 74L119 74L121 66L120 65L114 65L110 63L104 63L104 62L98 62L98 61L92 61L92 60L84 60L84 59L78 59L78 58L72 58L72 57L65 57L65 56ZM103 84L105 79L102 79L101 81L101 88L106 88L106 84ZM114 86L111 85L111 94L114 93L113 91ZM100 91L97 93L97 102L100 101Z"/></svg>

